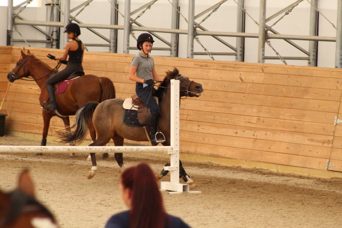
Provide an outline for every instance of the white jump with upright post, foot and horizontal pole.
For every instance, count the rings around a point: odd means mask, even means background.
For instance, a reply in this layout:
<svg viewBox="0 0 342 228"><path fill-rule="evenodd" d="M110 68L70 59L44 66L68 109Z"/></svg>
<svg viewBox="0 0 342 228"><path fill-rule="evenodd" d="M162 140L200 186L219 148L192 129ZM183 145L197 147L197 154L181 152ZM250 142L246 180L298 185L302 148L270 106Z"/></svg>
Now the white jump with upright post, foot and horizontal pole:
<svg viewBox="0 0 342 228"><path fill-rule="evenodd" d="M189 192L188 184L179 183L179 81L171 80L171 145L170 146L7 146L0 145L0 153L168 153L170 182L162 181L161 189Z"/></svg>

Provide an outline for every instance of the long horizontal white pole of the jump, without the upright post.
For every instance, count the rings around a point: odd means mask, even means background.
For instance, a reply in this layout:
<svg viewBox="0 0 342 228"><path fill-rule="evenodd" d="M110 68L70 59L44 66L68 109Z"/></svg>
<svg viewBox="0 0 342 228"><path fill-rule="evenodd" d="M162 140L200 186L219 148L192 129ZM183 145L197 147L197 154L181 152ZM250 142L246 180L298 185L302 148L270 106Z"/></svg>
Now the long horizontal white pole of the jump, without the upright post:
<svg viewBox="0 0 342 228"><path fill-rule="evenodd" d="M7 146L0 153L168 153L172 146Z"/></svg>

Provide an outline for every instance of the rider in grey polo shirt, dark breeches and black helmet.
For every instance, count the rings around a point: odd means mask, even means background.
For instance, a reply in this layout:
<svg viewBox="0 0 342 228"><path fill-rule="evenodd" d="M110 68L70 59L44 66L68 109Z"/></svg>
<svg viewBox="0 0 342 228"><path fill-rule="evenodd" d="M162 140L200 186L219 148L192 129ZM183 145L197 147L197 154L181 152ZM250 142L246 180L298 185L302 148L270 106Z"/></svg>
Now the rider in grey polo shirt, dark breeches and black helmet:
<svg viewBox="0 0 342 228"><path fill-rule="evenodd" d="M154 81L163 81L163 78L157 75L154 60L149 55L154 42L153 37L149 33L142 33L138 36L137 48L140 52L132 60L129 79L136 82L135 92L149 108L151 113L149 123L151 144L157 145L159 142L164 142L165 138L157 130L159 107L153 97L157 91L154 88Z"/></svg>

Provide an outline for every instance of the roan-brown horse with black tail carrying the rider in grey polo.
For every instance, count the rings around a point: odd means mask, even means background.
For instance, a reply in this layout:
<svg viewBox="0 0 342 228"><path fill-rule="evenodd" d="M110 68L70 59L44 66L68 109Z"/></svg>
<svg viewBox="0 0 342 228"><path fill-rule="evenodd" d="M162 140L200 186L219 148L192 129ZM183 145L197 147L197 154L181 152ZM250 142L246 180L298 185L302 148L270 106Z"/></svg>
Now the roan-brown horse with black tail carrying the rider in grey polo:
<svg viewBox="0 0 342 228"><path fill-rule="evenodd" d="M170 145L170 104L171 104L171 83L170 80L175 79L180 81L179 90L180 97L199 97L203 92L202 85L179 74L177 68L173 71L168 70L166 77L157 90L159 98L159 113L158 122L159 131L164 133L166 141L164 146ZM92 123L97 134L97 139L90 146L103 146L113 140L115 146L123 146L124 138L133 141L149 141L143 127L128 126L123 122L124 100L109 99L101 103L88 102L80 108L75 115L74 124L71 126L71 131L58 132L62 142L77 142L81 143L87 136L87 127ZM140 106L139 106L140 107ZM92 160L92 168L88 173L88 179L92 178L96 172L95 153L90 153ZM122 153L115 153L115 159L121 169L124 169L124 161ZM168 166L169 164L167 164ZM193 180L186 174L181 161L179 161L180 177L188 183L192 184ZM159 179L165 176L168 171L164 169L158 174Z"/></svg>

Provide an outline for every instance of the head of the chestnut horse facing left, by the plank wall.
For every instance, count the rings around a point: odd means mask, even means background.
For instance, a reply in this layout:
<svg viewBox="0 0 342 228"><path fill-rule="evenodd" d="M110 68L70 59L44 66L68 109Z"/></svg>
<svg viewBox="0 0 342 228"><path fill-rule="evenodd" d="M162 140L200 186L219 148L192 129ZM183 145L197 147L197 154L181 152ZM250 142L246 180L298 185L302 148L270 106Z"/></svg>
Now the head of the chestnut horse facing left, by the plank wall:
<svg viewBox="0 0 342 228"><path fill-rule="evenodd" d="M29 69L25 65L27 65L28 60L30 57L32 57L30 51L27 51L27 54L25 54L23 51L21 51L21 55L19 56L19 60L17 61L16 66L7 74L7 79L10 82L14 82L15 80L28 77Z"/></svg>

